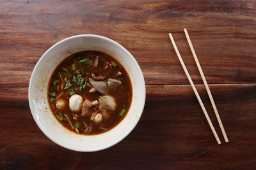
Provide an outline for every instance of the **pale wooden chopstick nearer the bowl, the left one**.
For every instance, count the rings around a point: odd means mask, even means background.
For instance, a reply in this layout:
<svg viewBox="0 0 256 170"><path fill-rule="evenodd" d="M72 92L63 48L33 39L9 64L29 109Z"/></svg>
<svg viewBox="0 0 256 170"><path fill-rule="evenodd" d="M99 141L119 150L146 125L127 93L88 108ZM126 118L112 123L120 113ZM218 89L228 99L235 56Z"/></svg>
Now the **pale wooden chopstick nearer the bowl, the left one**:
<svg viewBox="0 0 256 170"><path fill-rule="evenodd" d="M181 64L182 68L184 69L186 76L188 77L188 81L191 84L191 87L192 87L193 91L195 92L196 98L198 99L198 102L199 102L202 110L204 111L205 118L206 118L208 124L211 127L212 133L214 134L214 137L216 138L217 143L220 145L221 142L220 142L220 139L218 137L218 134L216 133L216 131L215 131L213 125L212 125L211 119L209 118L209 115L208 115L207 111L205 110L204 104L202 103L202 100L201 100L201 98L200 98L200 96L199 96L199 94L198 94L198 92L196 90L196 87L195 87L191 77L189 76L188 70L187 70L187 68L186 68L186 66L185 66L185 64L184 64L184 62L182 60L182 57L180 56L179 50L178 50L178 48L177 48L177 46L175 44L175 41L174 41L174 39L172 37L172 34L169 33L169 36L170 36L170 39L172 41L172 45L173 45L173 47L175 49L175 52L177 53L177 56L178 56L178 58L180 60L180 64Z"/></svg>

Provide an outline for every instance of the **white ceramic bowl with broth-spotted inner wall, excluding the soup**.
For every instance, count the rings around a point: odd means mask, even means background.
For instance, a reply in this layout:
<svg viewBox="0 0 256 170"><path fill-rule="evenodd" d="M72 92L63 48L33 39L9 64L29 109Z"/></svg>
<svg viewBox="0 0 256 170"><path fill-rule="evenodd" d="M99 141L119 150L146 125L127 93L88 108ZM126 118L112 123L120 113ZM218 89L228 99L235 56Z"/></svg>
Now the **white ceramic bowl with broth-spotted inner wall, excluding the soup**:
<svg viewBox="0 0 256 170"><path fill-rule="evenodd" d="M132 103L120 124L103 134L84 136L68 131L51 113L47 102L47 85L58 64L71 53L99 50L115 57L127 70L132 83ZM81 152L103 150L125 138L140 120L145 104L145 81L140 66L122 45L96 35L78 35L63 39L38 60L29 81L29 107L36 124L44 134L60 146Z"/></svg>

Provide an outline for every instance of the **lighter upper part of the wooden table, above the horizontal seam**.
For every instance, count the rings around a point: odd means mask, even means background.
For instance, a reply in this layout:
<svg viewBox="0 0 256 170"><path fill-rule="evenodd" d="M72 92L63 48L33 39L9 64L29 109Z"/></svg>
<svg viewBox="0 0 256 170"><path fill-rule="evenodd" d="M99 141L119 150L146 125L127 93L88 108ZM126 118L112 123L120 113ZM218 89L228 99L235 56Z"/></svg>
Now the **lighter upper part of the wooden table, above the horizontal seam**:
<svg viewBox="0 0 256 170"><path fill-rule="evenodd" d="M209 83L255 83L255 5L255 1L4 1L0 86L27 87L40 56L76 34L99 34L124 45L138 60L147 84L188 84L168 32L173 33L192 79L202 83L184 27Z"/></svg>

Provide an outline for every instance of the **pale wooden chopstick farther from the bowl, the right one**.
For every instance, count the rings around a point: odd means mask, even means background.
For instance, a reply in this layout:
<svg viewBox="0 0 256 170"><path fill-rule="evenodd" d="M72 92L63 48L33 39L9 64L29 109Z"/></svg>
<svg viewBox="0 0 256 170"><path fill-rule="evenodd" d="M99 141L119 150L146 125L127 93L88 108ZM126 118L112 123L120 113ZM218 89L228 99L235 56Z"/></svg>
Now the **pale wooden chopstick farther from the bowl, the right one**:
<svg viewBox="0 0 256 170"><path fill-rule="evenodd" d="M192 52L192 54L193 54L193 57L194 57L194 59L195 59L196 66L198 67L199 72L200 72L200 75L201 75L201 77L202 77L202 80L204 81L205 89L207 90L207 94L208 94L208 96L209 96L209 98L210 98L210 101L211 101L211 103L212 103L212 108L213 108L213 110L214 110L214 113L215 113L216 118L217 118L217 120L218 120L218 123L219 123L219 125L220 125L221 132L222 132L222 134L223 134L223 136L224 136L225 142L228 142L227 134L226 134L225 129L224 129L223 125L222 125L222 122L221 122L221 119L220 119L220 115L219 115L219 113L218 113L218 110L217 110L216 105L215 105L215 103L214 103L214 100L213 100L213 98L212 98L211 90L209 89L208 83L207 83L207 81L206 81L206 79L205 79L204 72L202 71L202 68L201 68L201 66L200 66L200 63L199 63L198 58L197 58L197 56L196 56L196 52L195 52L194 47L193 47L193 45L192 45L192 43L191 43L191 40L190 40L190 38L189 38L189 34L188 34L187 29L184 29L184 32L185 32L186 38L187 38L187 40L188 40L188 44L189 44L189 47L190 47L191 52Z"/></svg>

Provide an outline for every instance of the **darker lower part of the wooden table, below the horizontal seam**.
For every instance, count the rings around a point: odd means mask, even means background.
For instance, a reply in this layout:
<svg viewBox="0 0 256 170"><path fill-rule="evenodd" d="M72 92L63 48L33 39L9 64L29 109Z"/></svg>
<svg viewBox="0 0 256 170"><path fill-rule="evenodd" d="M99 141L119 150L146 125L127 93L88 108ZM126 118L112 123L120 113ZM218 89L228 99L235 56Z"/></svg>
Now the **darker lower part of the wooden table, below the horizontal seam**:
<svg viewBox="0 0 256 170"><path fill-rule="evenodd" d="M221 134L203 85L196 88ZM210 89L229 143L216 144L189 85L147 85L145 110L134 131L107 150L79 153L52 143L38 129L29 111L28 88L1 88L0 169L253 169L256 84ZM19 100L17 93L22 94Z"/></svg>

